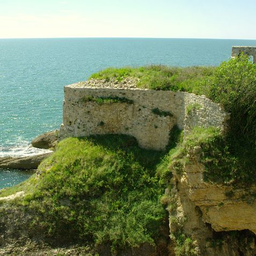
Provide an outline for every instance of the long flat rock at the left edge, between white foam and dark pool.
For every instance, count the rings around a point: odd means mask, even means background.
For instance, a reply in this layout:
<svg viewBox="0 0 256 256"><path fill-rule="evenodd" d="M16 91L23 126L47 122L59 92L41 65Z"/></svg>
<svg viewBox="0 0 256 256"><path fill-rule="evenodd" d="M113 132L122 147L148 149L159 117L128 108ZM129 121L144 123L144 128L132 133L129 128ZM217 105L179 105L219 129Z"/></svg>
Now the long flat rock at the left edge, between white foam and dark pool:
<svg viewBox="0 0 256 256"><path fill-rule="evenodd" d="M50 153L44 153L40 155L32 155L25 157L13 157L5 160L0 160L0 168L12 168L12 169L36 169L38 165L47 157Z"/></svg>

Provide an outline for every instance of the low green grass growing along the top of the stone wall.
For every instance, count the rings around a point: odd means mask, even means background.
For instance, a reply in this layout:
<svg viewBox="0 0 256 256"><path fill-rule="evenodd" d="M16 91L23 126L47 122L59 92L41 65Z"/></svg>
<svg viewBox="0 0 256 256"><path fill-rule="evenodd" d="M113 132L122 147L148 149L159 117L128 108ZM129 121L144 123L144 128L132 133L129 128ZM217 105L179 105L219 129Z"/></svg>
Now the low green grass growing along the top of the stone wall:
<svg viewBox="0 0 256 256"><path fill-rule="evenodd" d="M152 65L144 67L123 67L115 69L110 67L91 76L94 79L115 78L122 81L126 77L139 78L137 86L154 90L170 90L204 94L201 81L213 76L215 67L168 67Z"/></svg>

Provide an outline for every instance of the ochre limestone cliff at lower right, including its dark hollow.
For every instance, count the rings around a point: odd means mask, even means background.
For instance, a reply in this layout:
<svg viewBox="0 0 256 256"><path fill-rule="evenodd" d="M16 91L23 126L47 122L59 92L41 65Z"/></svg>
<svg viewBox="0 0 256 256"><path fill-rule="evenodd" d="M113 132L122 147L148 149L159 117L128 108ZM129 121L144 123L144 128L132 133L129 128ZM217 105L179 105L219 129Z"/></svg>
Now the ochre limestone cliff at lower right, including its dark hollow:
<svg viewBox="0 0 256 256"><path fill-rule="evenodd" d="M252 197L256 186L232 189L228 185L205 182L204 165L199 162L200 149L195 147L187 155L190 161L184 165L182 173L172 170L171 194L177 207L175 211L170 210L171 234L182 226L198 246L198 255L255 255L254 239L245 237L241 244L241 240L227 236L217 240L218 246L214 245L214 239L216 243L218 234L231 230L246 230L252 237L256 234L256 202Z"/></svg>

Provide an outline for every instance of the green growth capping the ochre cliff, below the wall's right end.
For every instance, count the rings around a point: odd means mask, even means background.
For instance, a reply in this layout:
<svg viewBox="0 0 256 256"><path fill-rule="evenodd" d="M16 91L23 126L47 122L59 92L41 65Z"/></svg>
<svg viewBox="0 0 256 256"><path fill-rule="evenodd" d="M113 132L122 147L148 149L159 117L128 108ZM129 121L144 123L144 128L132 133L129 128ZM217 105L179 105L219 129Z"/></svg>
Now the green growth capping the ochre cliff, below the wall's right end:
<svg viewBox="0 0 256 256"><path fill-rule="evenodd" d="M200 161L205 165L205 180L225 184L253 184L256 180L256 159L252 155L232 154L230 140L214 127L195 127L192 133L168 154L171 171L180 173L185 163L189 163L188 153L194 147L202 149ZM192 153L193 154L193 153ZM166 176L164 173L163 176Z"/></svg>

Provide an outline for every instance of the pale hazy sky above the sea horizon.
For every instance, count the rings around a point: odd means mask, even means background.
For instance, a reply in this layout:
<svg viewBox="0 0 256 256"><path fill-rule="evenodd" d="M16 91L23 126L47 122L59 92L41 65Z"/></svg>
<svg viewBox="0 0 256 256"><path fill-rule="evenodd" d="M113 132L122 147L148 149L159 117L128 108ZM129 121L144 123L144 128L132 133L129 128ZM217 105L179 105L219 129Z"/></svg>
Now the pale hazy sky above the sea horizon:
<svg viewBox="0 0 256 256"><path fill-rule="evenodd" d="M0 38L256 39L256 0L0 0Z"/></svg>

